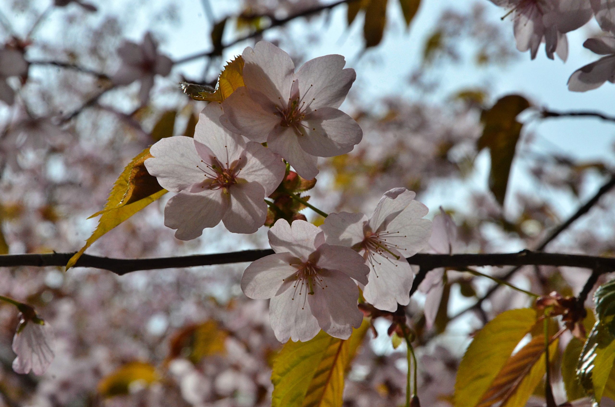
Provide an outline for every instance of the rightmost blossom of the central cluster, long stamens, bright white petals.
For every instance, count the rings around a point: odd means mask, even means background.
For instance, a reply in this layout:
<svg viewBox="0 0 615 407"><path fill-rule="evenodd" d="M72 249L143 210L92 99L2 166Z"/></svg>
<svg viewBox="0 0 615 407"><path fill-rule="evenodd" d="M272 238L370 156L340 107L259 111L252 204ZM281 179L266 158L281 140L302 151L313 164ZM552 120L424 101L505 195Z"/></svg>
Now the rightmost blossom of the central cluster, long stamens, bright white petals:
<svg viewBox="0 0 615 407"><path fill-rule="evenodd" d="M378 309L395 311L408 305L414 273L407 257L427 245L431 222L421 219L427 207L415 192L394 188L384 193L371 218L362 213L331 213L323 223L327 243L359 251L370 266L365 300Z"/></svg>

